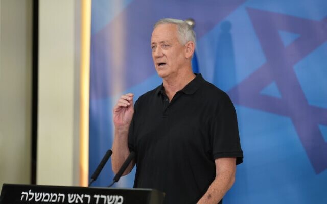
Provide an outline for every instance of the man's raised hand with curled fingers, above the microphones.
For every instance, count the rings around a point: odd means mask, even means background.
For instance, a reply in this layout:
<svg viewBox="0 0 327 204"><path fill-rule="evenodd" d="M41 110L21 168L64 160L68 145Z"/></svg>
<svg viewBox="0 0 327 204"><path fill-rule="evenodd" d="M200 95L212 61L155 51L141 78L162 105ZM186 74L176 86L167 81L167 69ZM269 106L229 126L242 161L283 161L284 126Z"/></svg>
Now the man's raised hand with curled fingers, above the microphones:
<svg viewBox="0 0 327 204"><path fill-rule="evenodd" d="M122 95L113 108L113 123L116 128L129 127L134 114L134 94Z"/></svg>

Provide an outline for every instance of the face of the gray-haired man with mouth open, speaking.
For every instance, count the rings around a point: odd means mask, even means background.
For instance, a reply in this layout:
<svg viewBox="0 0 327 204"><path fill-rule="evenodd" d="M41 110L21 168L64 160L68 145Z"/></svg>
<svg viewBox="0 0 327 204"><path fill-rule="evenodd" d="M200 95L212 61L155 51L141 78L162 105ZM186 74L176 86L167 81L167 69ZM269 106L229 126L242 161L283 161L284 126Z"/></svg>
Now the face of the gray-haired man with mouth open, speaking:
<svg viewBox="0 0 327 204"><path fill-rule="evenodd" d="M152 32L152 58L161 78L178 76L178 70L187 62L185 48L180 44L177 25L160 24Z"/></svg>

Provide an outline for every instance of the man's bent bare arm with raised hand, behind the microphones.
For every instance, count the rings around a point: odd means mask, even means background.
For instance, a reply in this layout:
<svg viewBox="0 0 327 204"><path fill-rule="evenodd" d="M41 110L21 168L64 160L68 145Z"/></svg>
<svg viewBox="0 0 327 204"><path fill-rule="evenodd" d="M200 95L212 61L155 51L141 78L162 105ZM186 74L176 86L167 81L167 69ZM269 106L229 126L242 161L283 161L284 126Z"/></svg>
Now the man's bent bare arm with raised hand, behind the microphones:
<svg viewBox="0 0 327 204"><path fill-rule="evenodd" d="M113 108L114 140L112 145L112 170L117 173L130 154L128 148L128 130L134 114L133 94L122 95ZM133 161L123 175L128 174L134 167Z"/></svg>

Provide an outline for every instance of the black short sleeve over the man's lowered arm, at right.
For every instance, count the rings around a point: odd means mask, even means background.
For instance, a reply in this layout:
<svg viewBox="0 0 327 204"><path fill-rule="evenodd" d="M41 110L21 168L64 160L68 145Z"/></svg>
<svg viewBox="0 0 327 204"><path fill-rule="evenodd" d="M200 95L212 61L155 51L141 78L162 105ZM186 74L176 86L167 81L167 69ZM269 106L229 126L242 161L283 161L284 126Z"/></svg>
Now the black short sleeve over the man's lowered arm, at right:
<svg viewBox="0 0 327 204"><path fill-rule="evenodd" d="M235 157L236 164L243 162L243 151L235 108L224 94L220 98L211 124L213 158Z"/></svg>

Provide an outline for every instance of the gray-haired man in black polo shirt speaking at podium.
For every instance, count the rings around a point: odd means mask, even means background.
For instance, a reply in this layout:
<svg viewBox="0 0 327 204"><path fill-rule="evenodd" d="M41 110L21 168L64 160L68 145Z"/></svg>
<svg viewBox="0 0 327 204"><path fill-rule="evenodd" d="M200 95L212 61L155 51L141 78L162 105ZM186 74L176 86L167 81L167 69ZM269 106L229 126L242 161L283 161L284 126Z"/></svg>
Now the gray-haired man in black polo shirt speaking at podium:
<svg viewBox="0 0 327 204"><path fill-rule="evenodd" d="M195 34L182 20L159 20L151 37L162 85L121 96L113 110L112 169L130 151L135 188L166 193L165 203L222 203L242 162L235 109L226 93L192 72Z"/></svg>

